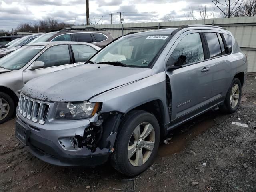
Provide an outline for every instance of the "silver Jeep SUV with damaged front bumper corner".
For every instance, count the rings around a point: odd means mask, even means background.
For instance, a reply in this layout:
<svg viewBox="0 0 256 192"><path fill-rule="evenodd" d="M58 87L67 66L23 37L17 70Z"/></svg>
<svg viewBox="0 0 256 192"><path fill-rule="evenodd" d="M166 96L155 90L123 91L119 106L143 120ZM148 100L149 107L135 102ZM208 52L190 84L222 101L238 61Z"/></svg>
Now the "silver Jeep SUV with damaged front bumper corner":
<svg viewBox="0 0 256 192"><path fill-rule="evenodd" d="M217 106L239 106L247 58L230 32L184 26L122 36L87 64L28 82L16 137L39 159L94 166L110 159L134 176L160 138Z"/></svg>

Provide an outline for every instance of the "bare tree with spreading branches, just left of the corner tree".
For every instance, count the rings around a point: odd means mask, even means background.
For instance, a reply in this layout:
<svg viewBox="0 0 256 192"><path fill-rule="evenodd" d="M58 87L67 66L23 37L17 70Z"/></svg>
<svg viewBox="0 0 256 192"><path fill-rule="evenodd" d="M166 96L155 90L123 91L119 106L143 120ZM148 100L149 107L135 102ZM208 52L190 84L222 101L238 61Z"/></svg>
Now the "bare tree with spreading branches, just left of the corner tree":
<svg viewBox="0 0 256 192"><path fill-rule="evenodd" d="M232 17L237 14L244 0L212 0L213 4L221 11L223 17Z"/></svg>

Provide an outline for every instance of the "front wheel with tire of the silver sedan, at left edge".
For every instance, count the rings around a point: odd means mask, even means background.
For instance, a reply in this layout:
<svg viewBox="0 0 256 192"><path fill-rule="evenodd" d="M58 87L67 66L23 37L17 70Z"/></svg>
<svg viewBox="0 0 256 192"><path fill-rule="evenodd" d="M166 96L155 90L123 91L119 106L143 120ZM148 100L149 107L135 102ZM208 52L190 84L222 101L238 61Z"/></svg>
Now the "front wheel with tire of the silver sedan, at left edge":
<svg viewBox="0 0 256 192"><path fill-rule="evenodd" d="M0 92L0 124L8 121L13 116L14 108L15 105L12 98Z"/></svg>

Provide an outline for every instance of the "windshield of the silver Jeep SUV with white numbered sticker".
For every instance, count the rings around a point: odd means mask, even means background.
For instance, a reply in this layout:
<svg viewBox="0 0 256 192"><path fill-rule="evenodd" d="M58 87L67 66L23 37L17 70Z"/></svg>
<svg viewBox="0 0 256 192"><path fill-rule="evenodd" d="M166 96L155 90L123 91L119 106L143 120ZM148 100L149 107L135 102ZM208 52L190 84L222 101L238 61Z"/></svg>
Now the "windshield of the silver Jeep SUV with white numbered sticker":
<svg viewBox="0 0 256 192"><path fill-rule="evenodd" d="M90 61L111 64L119 62L130 67L150 67L169 35L124 36L96 54Z"/></svg>

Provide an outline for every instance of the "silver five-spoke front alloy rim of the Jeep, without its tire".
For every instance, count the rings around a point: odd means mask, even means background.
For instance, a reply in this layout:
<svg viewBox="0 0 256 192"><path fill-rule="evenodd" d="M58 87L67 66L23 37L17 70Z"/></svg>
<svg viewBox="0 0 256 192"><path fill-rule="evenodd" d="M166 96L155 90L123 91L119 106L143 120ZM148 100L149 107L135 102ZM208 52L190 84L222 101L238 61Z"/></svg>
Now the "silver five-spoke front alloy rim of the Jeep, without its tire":
<svg viewBox="0 0 256 192"><path fill-rule="evenodd" d="M143 122L135 128L128 145L128 158L133 166L141 166L148 160L154 149L155 139L152 124Z"/></svg>

